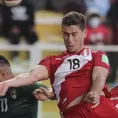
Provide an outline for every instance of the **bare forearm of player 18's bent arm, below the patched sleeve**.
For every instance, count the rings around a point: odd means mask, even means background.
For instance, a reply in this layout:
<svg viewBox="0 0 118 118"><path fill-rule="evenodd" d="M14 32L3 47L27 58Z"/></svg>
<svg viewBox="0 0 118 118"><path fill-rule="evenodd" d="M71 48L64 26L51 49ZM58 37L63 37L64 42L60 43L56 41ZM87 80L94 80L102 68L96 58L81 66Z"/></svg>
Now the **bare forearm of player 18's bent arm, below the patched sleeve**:
<svg viewBox="0 0 118 118"><path fill-rule="evenodd" d="M91 86L90 91L94 91L100 94L104 88L105 82L106 82L106 78L97 77L95 80L93 80L93 84Z"/></svg>

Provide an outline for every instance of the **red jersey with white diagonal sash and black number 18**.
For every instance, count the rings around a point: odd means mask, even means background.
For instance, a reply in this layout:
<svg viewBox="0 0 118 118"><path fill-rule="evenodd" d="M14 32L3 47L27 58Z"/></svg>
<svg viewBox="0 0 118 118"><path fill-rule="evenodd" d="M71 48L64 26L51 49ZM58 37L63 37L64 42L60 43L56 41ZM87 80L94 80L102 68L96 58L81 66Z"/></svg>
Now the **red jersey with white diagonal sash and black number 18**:
<svg viewBox="0 0 118 118"><path fill-rule="evenodd" d="M40 62L48 72L58 106L63 111L76 97L89 91L92 85L94 66L109 69L106 54L84 48L78 53L65 51L58 56L49 56Z"/></svg>

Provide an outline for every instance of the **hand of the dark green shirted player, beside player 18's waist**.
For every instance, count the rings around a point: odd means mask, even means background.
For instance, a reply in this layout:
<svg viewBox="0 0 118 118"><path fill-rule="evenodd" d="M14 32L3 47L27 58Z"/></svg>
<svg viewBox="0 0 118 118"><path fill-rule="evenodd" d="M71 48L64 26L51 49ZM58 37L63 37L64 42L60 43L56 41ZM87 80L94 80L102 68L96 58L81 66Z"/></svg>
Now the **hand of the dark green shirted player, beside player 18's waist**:
<svg viewBox="0 0 118 118"><path fill-rule="evenodd" d="M37 100L45 101L54 97L54 93L51 88L40 87L33 92Z"/></svg>

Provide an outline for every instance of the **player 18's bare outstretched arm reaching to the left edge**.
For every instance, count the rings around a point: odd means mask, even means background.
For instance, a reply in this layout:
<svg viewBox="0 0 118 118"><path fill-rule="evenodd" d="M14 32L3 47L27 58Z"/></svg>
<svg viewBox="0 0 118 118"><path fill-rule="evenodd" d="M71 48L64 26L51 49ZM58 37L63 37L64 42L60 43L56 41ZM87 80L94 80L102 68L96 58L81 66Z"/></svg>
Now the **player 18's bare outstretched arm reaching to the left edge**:
<svg viewBox="0 0 118 118"><path fill-rule="evenodd" d="M11 80L7 80L0 83L0 95L5 95L6 91L10 87L26 86L37 81L48 79L48 70L43 65L38 65L32 69L32 71L24 74L20 74Z"/></svg>

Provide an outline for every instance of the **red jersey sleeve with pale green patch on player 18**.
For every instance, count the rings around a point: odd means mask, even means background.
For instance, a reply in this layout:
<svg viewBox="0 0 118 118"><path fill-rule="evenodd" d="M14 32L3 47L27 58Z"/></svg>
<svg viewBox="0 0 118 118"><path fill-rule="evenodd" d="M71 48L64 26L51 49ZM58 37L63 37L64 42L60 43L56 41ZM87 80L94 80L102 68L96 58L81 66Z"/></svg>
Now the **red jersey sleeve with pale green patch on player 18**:
<svg viewBox="0 0 118 118"><path fill-rule="evenodd" d="M109 59L105 52L97 51L94 57L94 66L101 66L110 69Z"/></svg>

